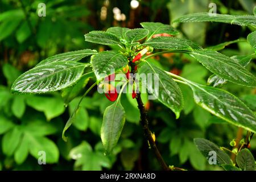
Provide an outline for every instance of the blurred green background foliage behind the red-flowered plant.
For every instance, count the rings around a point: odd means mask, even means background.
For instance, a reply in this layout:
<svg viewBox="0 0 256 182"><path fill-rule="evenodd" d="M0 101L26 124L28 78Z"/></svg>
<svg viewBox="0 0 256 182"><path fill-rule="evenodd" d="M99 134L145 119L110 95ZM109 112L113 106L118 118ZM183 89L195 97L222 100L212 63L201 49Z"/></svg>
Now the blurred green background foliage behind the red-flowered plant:
<svg viewBox="0 0 256 182"><path fill-rule="evenodd" d="M46 3L46 17L37 14L38 4L42 2ZM253 14L253 0L212 2L217 5L217 13ZM113 154L105 156L100 127L102 114L111 103L97 90L82 101L74 125L67 132L68 142L61 139L61 131L79 98L67 105L61 97L65 94L63 92L36 96L10 93L15 78L48 56L84 48L105 49L86 43L86 32L111 26L135 28L145 21L171 23L181 15L209 10L209 2L203 0L145 0L139 3L139 7L133 10L128 0L0 2L0 169L160 169L148 150L139 125L139 110L130 95L123 97L122 101L127 122L121 138ZM114 18L114 7L126 15L125 20ZM104 10L105 18L102 17ZM252 53L249 44L243 41L250 32L246 27L222 23L183 23L175 26L181 31L180 36L203 47L240 39L221 51L225 55ZM151 62L204 85L211 75L197 61L180 53L156 56ZM255 60L247 67L255 74ZM88 85L91 84L89 81ZM165 106L156 101L143 101L163 158L167 164L185 169L221 169L207 163L193 144L193 138L208 138L219 146L229 146L231 140L245 137L246 132L237 136L237 127L196 106L192 91L184 85L180 88L184 96L184 110L177 121ZM224 89L240 97L251 110L256 110L256 90L232 83L226 84ZM232 149L231 146L229 148ZM251 151L254 156L255 150L256 140L253 138ZM46 151L47 165L38 164L39 151Z"/></svg>

